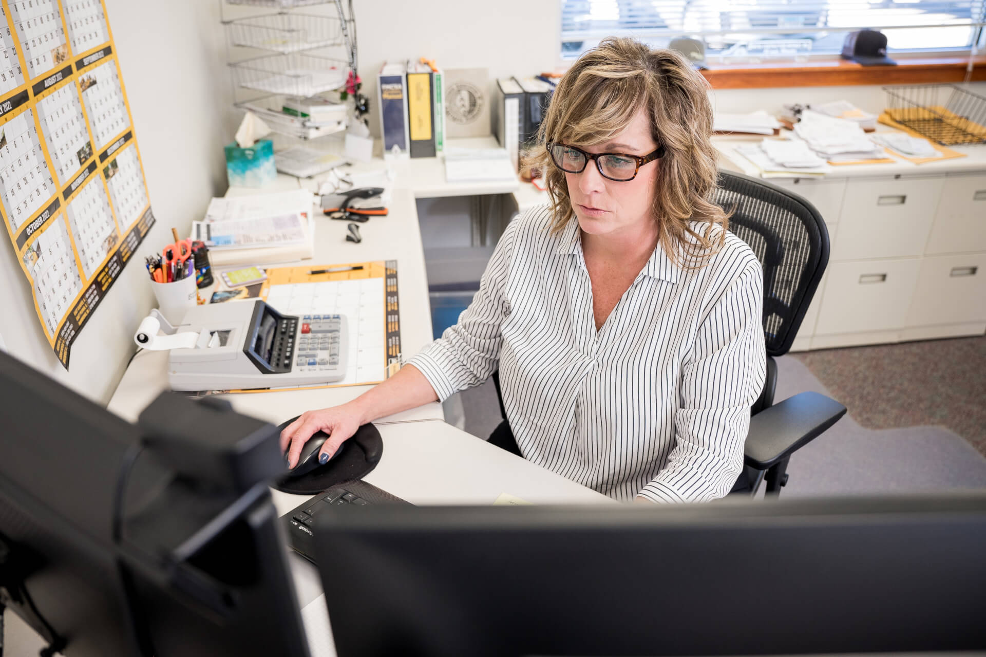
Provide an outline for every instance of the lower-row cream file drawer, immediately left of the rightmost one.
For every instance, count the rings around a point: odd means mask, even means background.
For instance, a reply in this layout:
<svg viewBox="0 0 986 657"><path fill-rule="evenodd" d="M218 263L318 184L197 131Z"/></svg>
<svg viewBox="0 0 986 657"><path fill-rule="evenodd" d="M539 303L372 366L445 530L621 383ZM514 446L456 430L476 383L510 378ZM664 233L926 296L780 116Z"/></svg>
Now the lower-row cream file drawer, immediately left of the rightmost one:
<svg viewBox="0 0 986 657"><path fill-rule="evenodd" d="M919 258L830 262L814 334L902 328L920 266Z"/></svg>

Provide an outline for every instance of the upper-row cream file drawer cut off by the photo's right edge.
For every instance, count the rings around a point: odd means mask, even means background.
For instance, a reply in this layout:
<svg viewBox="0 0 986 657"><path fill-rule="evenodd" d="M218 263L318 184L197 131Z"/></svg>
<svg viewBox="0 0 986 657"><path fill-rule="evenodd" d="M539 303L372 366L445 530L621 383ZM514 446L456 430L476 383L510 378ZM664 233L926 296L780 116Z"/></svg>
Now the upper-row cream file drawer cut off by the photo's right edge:
<svg viewBox="0 0 986 657"><path fill-rule="evenodd" d="M925 253L969 251L986 251L986 176L949 176Z"/></svg>

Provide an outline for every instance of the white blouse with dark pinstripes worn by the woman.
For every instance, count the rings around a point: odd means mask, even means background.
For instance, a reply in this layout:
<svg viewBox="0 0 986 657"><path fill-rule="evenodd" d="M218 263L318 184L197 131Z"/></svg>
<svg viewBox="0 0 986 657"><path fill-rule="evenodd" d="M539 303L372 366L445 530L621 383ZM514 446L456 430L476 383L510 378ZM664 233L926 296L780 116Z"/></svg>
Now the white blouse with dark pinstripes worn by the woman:
<svg viewBox="0 0 986 657"><path fill-rule="evenodd" d="M547 206L515 219L458 324L409 362L441 400L499 367L525 458L605 495L726 495L765 376L756 256L728 233L686 271L659 245L597 331L578 222L549 225Z"/></svg>

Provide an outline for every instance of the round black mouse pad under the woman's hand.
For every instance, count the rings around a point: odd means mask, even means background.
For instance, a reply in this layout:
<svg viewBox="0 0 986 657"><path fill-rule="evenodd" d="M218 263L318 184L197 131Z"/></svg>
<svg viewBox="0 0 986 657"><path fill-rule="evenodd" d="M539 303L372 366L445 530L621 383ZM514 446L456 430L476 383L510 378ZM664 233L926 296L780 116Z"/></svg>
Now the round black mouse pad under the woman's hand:
<svg viewBox="0 0 986 657"><path fill-rule="evenodd" d="M298 416L277 428L283 431L296 419ZM283 474L274 482L274 487L295 495L315 495L340 481L359 479L377 467L381 455L384 454L384 440L377 427L372 423L364 424L356 430L352 438L342 443L341 449L342 454L311 473L294 477L290 472Z"/></svg>

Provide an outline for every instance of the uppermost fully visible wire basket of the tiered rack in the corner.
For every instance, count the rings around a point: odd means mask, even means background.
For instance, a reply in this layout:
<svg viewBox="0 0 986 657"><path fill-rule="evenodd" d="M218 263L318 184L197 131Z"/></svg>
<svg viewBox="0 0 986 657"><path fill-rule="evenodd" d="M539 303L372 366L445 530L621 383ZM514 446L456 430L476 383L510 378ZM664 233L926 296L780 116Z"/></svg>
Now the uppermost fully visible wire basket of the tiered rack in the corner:
<svg viewBox="0 0 986 657"><path fill-rule="evenodd" d="M233 45L282 53L342 45L339 21L332 16L279 12L225 24Z"/></svg>

